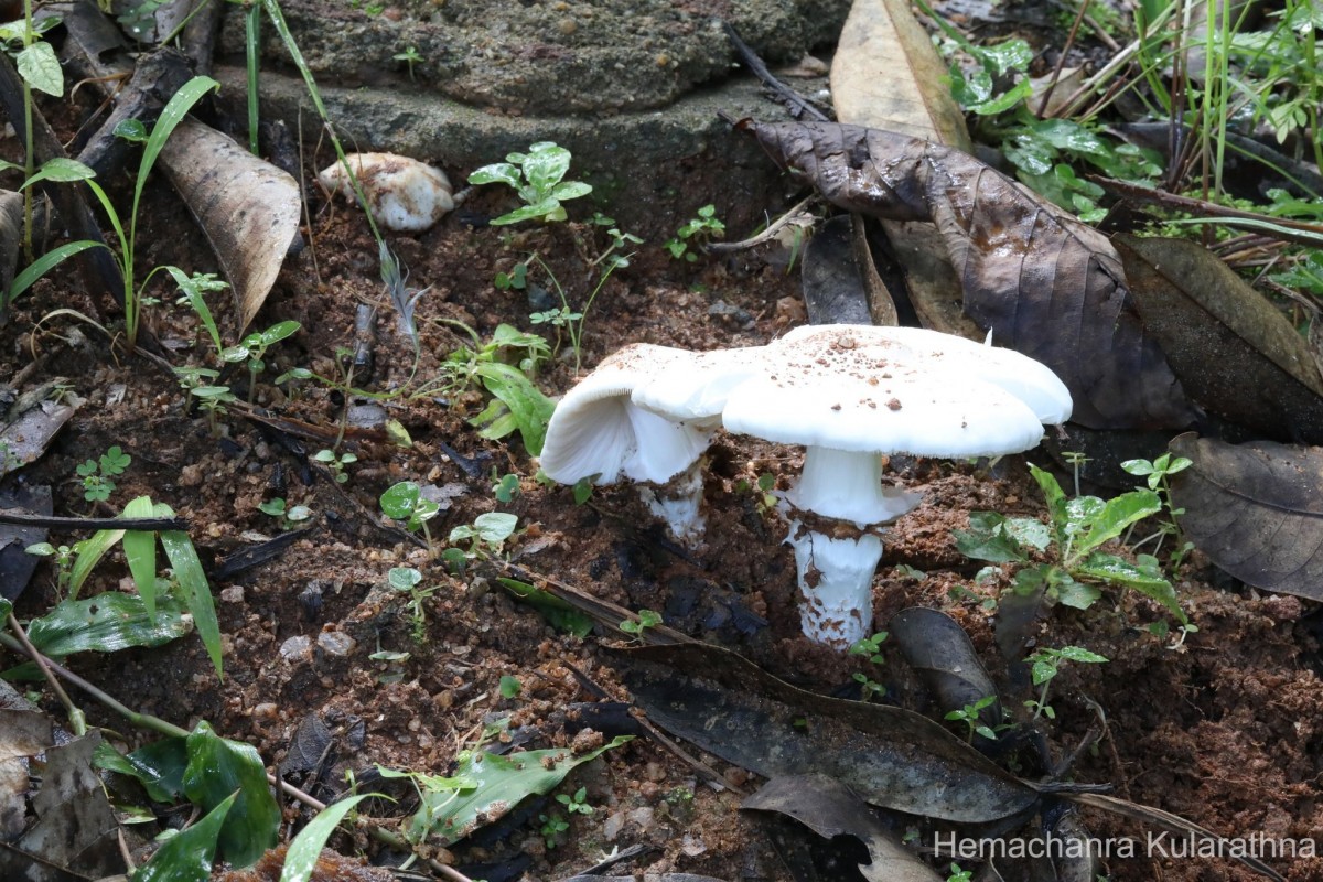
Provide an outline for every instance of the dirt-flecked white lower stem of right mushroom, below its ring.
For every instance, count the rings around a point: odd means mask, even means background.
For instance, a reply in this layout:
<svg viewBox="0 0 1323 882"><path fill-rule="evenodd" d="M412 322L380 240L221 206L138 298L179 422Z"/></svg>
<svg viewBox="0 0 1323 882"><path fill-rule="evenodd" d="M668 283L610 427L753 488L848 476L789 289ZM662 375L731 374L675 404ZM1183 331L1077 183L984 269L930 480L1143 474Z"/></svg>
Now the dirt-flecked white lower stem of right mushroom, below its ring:
<svg viewBox="0 0 1323 882"><path fill-rule="evenodd" d="M882 541L865 533L857 540L833 540L790 525L786 538L795 549L799 621L804 636L837 649L848 649L869 635L873 624L873 573L882 559Z"/></svg>

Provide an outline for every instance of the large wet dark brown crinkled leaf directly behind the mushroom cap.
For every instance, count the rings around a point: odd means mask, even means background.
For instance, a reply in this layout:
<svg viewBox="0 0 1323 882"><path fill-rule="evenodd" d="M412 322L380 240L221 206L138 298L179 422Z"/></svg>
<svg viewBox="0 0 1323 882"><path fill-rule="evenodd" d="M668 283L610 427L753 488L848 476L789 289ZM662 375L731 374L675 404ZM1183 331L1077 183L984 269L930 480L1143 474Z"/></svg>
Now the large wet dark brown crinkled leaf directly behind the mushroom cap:
<svg viewBox="0 0 1323 882"><path fill-rule="evenodd" d="M960 276L964 311L992 329L995 344L1061 377L1074 422L1172 428L1197 417L1097 230L950 147L836 123L749 126L830 202L934 222Z"/></svg>

